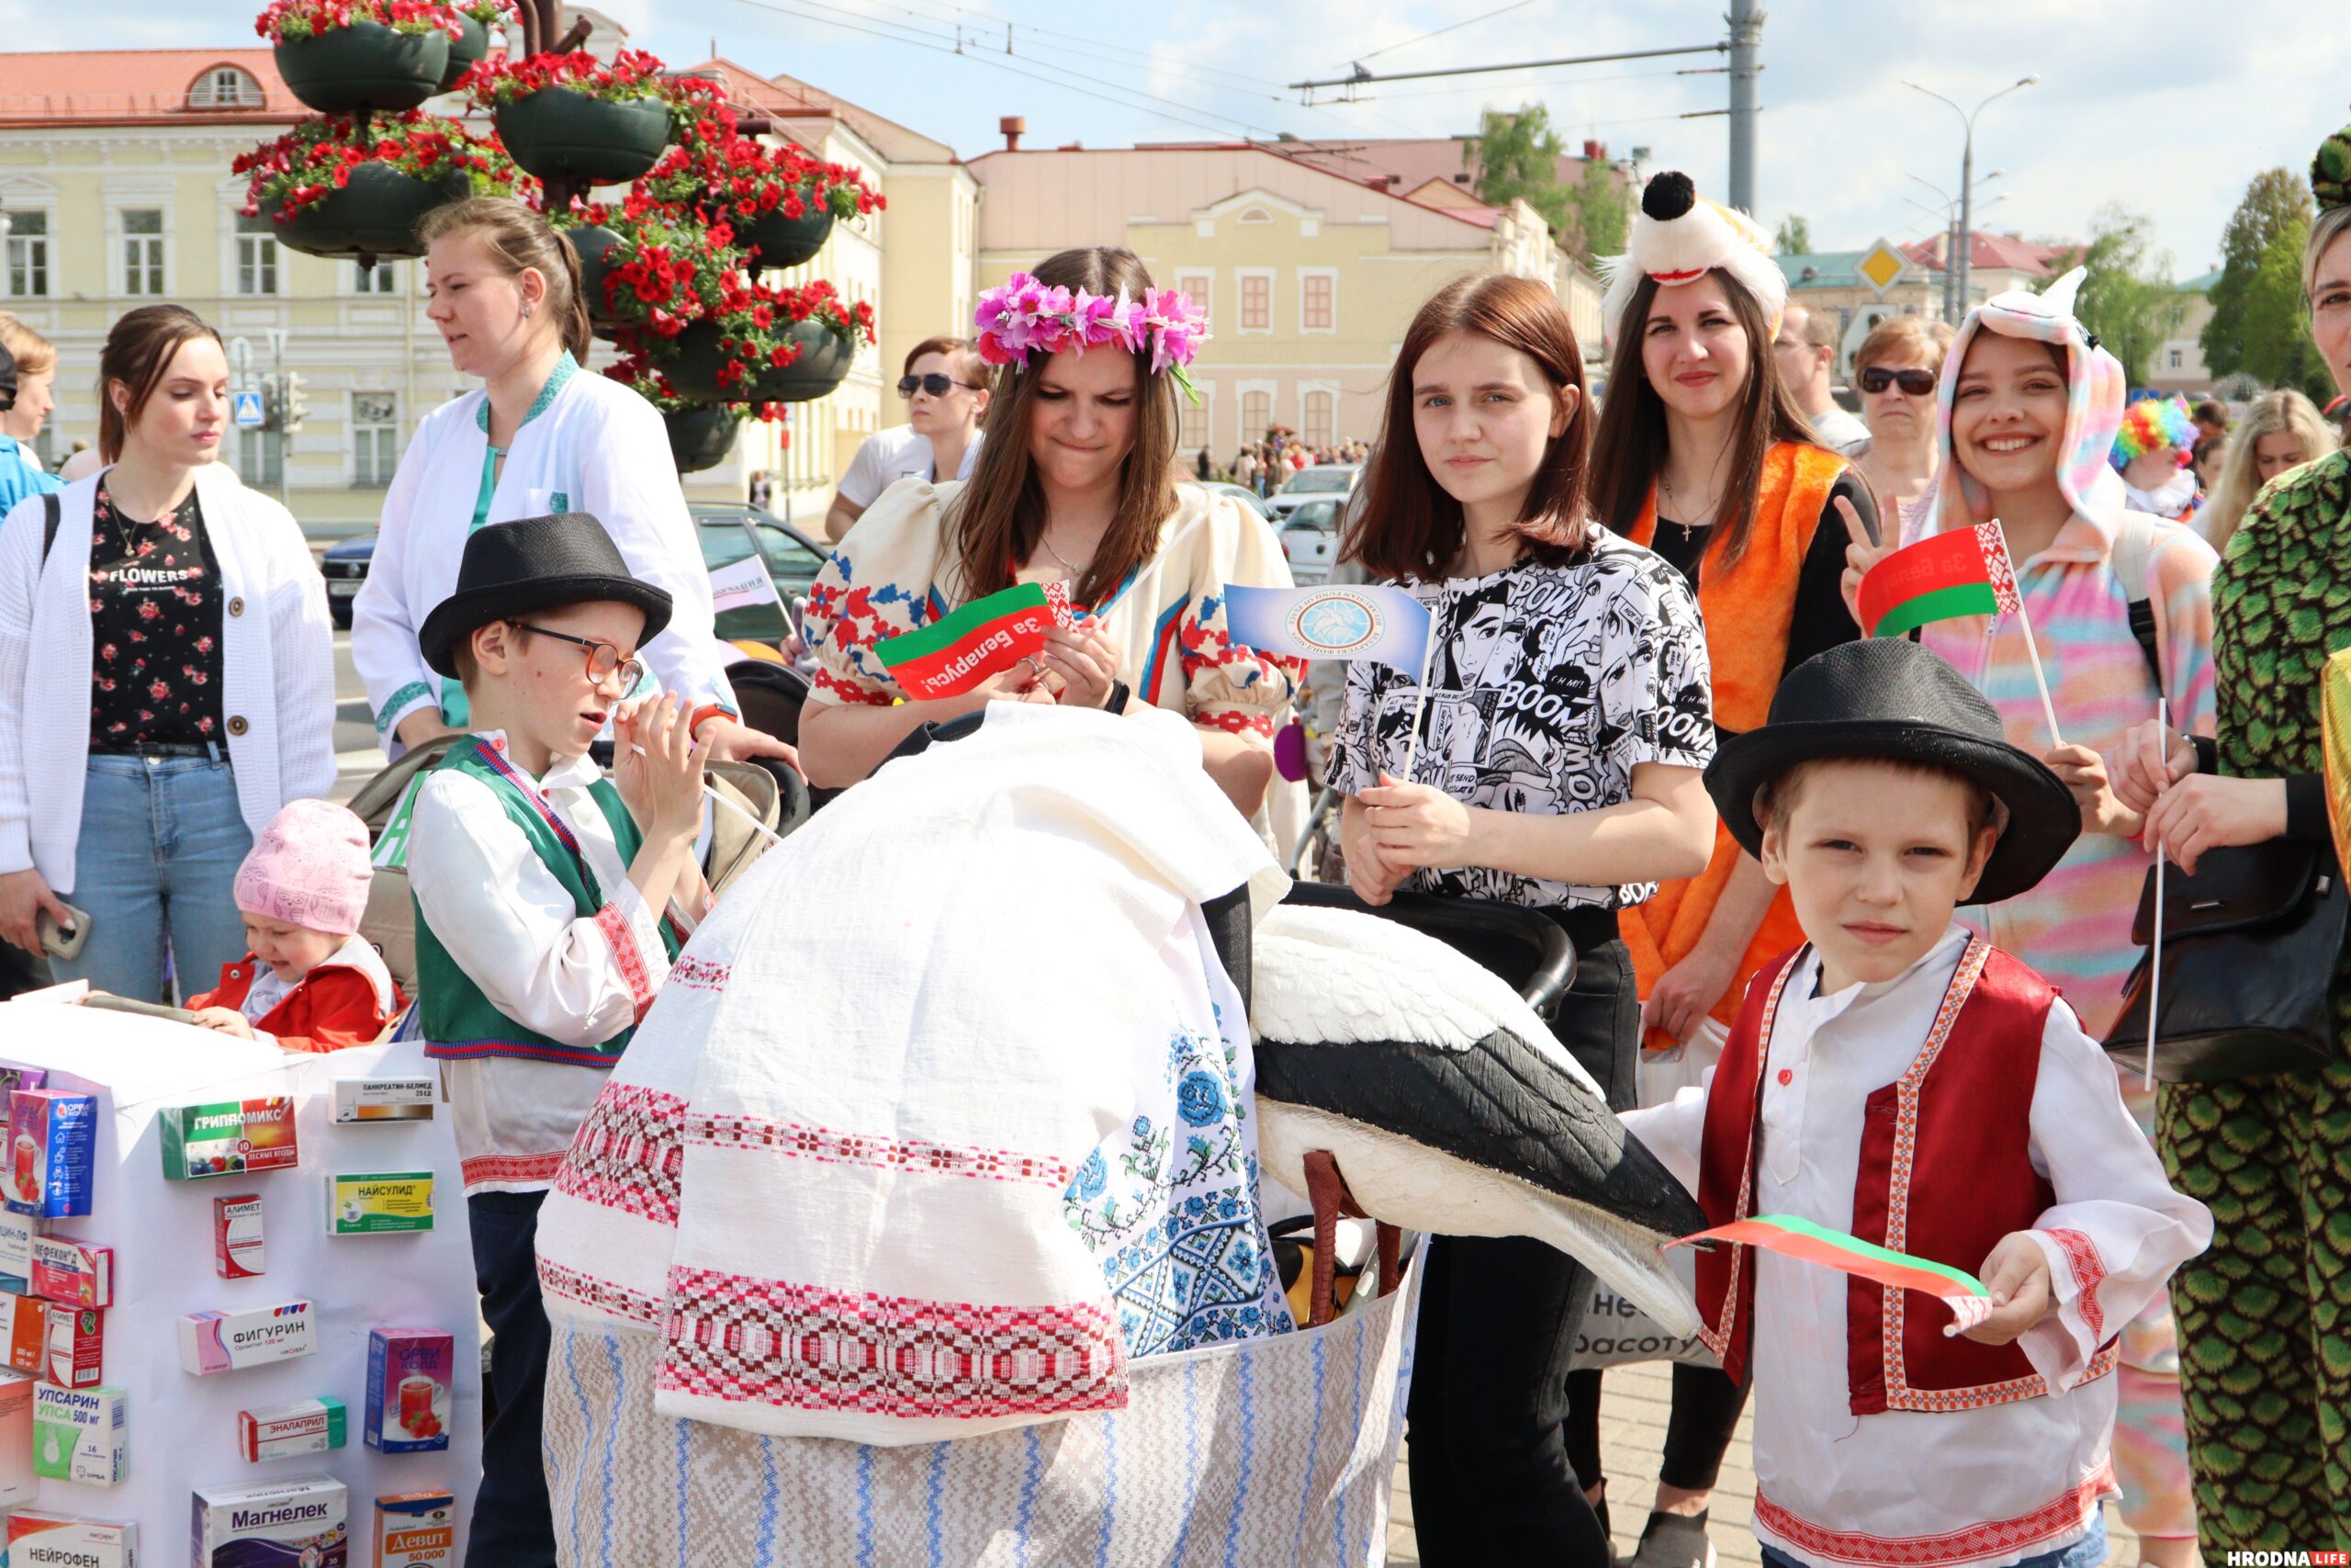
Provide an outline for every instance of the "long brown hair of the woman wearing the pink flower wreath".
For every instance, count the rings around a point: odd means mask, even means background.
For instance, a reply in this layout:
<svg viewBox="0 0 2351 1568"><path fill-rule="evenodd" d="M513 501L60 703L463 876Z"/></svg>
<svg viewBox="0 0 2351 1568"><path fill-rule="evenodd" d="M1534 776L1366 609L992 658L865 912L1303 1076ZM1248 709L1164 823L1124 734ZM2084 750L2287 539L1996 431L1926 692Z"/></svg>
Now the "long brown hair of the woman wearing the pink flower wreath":
<svg viewBox="0 0 2351 1568"><path fill-rule="evenodd" d="M1126 289L1143 299L1152 275L1128 249L1086 247L1037 263L1037 282L1086 289L1110 299ZM1096 348L1107 355L1117 348ZM1119 465L1119 508L1103 534L1086 574L1070 585L1079 604L1100 607L1126 574L1159 552L1159 529L1176 512L1176 378L1154 376L1150 350L1128 355L1136 364L1136 444ZM1013 571L1044 536L1044 484L1030 463L1030 418L1044 362L999 364L987 402L987 442L971 482L947 510L947 548L962 567L962 592L985 597L1013 585Z"/></svg>

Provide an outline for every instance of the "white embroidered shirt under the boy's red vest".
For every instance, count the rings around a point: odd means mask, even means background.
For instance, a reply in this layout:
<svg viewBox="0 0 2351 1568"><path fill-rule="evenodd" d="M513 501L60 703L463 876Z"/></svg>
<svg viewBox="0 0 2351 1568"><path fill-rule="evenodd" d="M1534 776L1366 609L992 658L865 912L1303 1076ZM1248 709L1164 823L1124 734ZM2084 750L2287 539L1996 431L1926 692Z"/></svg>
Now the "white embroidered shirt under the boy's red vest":
<svg viewBox="0 0 2351 1568"><path fill-rule="evenodd" d="M1754 1213L1853 1229L1867 1100L1918 1058L1965 940L1951 926L1900 978L1829 997L1815 994L1820 959L1799 961L1763 1063ZM1707 1088L1683 1088L1669 1105L1625 1112L1625 1124L1695 1192L1704 1112ZM2170 1190L2123 1110L2114 1065L2062 1001L2041 1037L2029 1147L2057 1194L2031 1234L2059 1309L2017 1342L2052 1389L2045 1399L1855 1418L1846 1274L1749 1255L1759 1540L1810 1563L1998 1568L2090 1530L2099 1497L2116 1490L2116 1394L2114 1375L2081 1378L2097 1347L2205 1248L2212 1215ZM1982 1272L1982 1258L1954 1262ZM1916 1293L1904 1312L1947 1314Z"/></svg>

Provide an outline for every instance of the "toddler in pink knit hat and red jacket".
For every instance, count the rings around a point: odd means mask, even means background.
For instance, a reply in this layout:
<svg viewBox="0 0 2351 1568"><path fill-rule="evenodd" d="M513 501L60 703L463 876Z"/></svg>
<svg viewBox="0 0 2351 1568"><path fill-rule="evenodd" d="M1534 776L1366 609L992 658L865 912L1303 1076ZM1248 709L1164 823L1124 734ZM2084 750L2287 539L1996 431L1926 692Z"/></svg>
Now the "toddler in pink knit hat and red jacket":
<svg viewBox="0 0 2351 1568"><path fill-rule="evenodd" d="M299 799L273 816L235 882L252 952L188 999L195 1023L284 1051L379 1039L404 999L383 954L357 936L369 877L367 823L346 806Z"/></svg>

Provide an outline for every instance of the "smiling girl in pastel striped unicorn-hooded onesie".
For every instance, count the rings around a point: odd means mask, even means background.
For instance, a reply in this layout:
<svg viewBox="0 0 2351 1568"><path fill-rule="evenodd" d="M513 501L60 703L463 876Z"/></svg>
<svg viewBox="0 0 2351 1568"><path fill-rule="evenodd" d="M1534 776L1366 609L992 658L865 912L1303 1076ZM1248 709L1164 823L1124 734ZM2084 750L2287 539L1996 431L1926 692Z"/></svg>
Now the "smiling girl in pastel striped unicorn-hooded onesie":
<svg viewBox="0 0 2351 1568"><path fill-rule="evenodd" d="M2139 846L2144 818L2111 788L2111 764L2158 696L2175 726L2212 733L2215 557L2193 529L2128 503L2109 461L2125 376L2074 315L2081 282L2074 268L2043 294L1998 294L1961 324L1937 395L1942 482L1902 543L1980 522L1998 522L2008 541L2062 733L2050 733L2017 616L1937 621L1921 639L1991 698L2010 743L2067 780L2083 835L2031 893L1958 917L2024 954L2102 1039L2139 954L2130 917L2154 863ZM1848 555L1848 599L1857 574L1890 548ZM2123 1077L2123 1100L2151 1138L2156 1100L2135 1072ZM2184 1566L2196 1512L2168 1302L2156 1298L2121 1338L2121 1514L2142 1561Z"/></svg>

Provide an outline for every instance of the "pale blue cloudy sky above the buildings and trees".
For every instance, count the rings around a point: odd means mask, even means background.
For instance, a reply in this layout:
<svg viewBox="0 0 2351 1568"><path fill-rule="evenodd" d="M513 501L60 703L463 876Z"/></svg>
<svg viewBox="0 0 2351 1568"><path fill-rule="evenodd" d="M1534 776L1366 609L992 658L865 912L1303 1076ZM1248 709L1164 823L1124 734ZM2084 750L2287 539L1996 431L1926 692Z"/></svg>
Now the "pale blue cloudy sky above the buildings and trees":
<svg viewBox="0 0 2351 1568"><path fill-rule="evenodd" d="M242 0L0 0L19 49L120 42L249 42ZM1027 115L1030 143L1121 146L1197 136L1434 136L1481 108L1542 101L1570 143L1596 136L1719 193L1721 56L1617 61L1361 89L1307 108L1281 85L1371 71L1556 59L1714 42L1723 0L604 0L635 42L672 63L712 42L755 71L788 71L966 155L999 146L997 118ZM1799 212L1822 249L1942 228L1956 193L1958 115L1921 82L1975 106L2038 73L1977 122L1977 226L2081 235L2104 202L2156 221L2177 275L2212 266L2245 181L2306 167L2351 120L2344 0L1768 0L1756 207ZM1502 12L1502 14L1491 14ZM101 26L92 26L99 21ZM1434 38L1422 38L1439 28ZM957 38L964 54L959 56ZM1006 38L1011 54L1006 54ZM1394 47L1404 45L1404 47ZM1023 75L1025 73L1025 75ZM1373 96L1378 92L1378 96ZM1909 176L1921 179L1909 179ZM1994 197L1998 205L1987 207ZM1921 205L1911 205L1921 202Z"/></svg>

